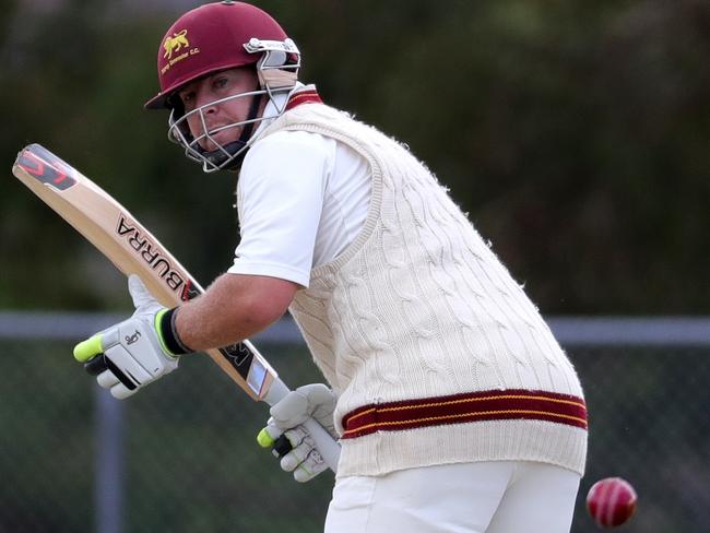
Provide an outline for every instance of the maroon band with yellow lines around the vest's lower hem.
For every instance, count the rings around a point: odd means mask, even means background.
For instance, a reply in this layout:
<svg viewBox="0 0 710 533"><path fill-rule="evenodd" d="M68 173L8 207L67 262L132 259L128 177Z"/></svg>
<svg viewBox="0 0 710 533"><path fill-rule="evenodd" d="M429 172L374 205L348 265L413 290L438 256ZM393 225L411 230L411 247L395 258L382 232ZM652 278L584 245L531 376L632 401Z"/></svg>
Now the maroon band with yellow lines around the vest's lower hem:
<svg viewBox="0 0 710 533"><path fill-rule="evenodd" d="M343 417L344 439L481 421L533 419L587 429L584 400L556 392L504 390L471 392L365 405Z"/></svg>

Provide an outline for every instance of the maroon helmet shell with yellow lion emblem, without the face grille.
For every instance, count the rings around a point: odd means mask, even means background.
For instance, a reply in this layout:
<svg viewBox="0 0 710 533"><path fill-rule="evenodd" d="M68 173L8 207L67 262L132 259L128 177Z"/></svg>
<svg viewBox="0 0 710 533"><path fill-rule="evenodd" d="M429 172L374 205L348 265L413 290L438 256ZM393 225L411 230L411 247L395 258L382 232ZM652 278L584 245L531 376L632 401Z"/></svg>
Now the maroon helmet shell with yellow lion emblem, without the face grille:
<svg viewBox="0 0 710 533"><path fill-rule="evenodd" d="M244 47L252 37L287 38L271 15L248 3L225 0L188 11L163 37L157 50L161 92L145 108L170 108L168 98L182 85L210 72L256 63L262 54Z"/></svg>

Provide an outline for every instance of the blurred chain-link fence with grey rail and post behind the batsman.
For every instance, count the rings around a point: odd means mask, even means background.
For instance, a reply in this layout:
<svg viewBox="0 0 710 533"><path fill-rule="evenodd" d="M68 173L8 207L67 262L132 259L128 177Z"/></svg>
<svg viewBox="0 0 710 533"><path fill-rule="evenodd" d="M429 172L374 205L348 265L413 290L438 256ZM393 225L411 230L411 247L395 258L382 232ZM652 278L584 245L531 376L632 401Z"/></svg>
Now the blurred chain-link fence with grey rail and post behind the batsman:
<svg viewBox="0 0 710 533"><path fill-rule="evenodd" d="M118 402L84 376L74 342L108 316L0 313L0 532L318 532L332 474L299 485L256 435L251 402L208 357ZM587 475L639 494L629 533L710 523L710 320L553 320L590 413ZM281 328L281 329L280 329ZM258 337L293 386L319 380L293 327Z"/></svg>

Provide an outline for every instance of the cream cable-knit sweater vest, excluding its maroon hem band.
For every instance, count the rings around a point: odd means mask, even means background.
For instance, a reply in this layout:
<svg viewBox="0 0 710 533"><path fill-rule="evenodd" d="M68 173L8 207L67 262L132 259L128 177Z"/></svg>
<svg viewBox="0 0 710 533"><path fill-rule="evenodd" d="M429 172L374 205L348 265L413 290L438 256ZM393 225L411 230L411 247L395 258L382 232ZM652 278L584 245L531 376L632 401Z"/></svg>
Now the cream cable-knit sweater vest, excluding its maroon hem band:
<svg viewBox="0 0 710 533"><path fill-rule="evenodd" d="M365 226L312 270L291 306L339 394L335 424L367 404L524 389L582 398L537 309L431 173L405 146L324 105L287 111L260 138L304 130L345 143L371 167ZM339 476L431 464L542 461L582 473L587 431L494 419L343 439Z"/></svg>

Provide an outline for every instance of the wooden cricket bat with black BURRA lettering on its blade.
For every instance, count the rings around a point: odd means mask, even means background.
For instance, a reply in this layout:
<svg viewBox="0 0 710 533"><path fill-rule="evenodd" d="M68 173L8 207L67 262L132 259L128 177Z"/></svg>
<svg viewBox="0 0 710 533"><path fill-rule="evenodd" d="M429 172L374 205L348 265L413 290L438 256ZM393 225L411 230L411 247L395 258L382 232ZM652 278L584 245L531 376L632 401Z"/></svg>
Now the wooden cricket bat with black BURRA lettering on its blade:
<svg viewBox="0 0 710 533"><path fill-rule="evenodd" d="M12 173L106 256L123 274L138 274L165 307L203 292L170 252L120 203L39 144L20 154ZM288 393L276 371L249 342L208 350L208 355L255 401L273 405ZM335 472L340 445L316 421L306 429Z"/></svg>

